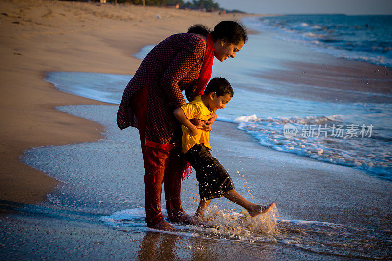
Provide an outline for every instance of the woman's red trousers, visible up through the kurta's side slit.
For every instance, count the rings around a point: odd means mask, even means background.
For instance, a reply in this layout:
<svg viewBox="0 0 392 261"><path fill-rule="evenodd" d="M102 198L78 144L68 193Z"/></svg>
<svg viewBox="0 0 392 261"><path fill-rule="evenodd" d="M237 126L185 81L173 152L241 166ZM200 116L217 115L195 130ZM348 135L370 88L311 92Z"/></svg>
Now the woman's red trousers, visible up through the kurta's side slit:
<svg viewBox="0 0 392 261"><path fill-rule="evenodd" d="M144 160L146 223L153 226L163 220L161 211L162 183L165 186L166 210L170 220L176 221L185 211L181 206L183 155L181 147L163 150L145 145L148 85L132 97L132 109L138 120L140 144Z"/></svg>

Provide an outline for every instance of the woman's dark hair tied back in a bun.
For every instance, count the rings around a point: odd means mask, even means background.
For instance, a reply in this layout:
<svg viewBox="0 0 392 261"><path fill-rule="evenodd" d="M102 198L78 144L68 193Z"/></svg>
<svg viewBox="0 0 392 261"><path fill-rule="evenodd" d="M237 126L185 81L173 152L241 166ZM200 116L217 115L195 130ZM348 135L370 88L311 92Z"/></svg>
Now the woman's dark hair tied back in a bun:
<svg viewBox="0 0 392 261"><path fill-rule="evenodd" d="M211 32L214 41L221 38L227 38L229 43L238 44L241 41L244 43L248 40L246 28L243 24L235 21L222 21L214 27L213 31L204 25L193 25L189 27L188 33L197 33L207 36L207 33Z"/></svg>

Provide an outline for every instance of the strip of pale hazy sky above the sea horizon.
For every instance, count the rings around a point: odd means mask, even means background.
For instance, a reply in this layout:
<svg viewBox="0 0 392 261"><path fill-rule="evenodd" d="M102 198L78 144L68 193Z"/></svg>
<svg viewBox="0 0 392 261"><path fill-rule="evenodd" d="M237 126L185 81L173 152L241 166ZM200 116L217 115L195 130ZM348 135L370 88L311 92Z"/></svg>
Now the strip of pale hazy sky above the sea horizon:
<svg viewBox="0 0 392 261"><path fill-rule="evenodd" d="M392 14L392 0L214 0L221 7L259 14Z"/></svg>

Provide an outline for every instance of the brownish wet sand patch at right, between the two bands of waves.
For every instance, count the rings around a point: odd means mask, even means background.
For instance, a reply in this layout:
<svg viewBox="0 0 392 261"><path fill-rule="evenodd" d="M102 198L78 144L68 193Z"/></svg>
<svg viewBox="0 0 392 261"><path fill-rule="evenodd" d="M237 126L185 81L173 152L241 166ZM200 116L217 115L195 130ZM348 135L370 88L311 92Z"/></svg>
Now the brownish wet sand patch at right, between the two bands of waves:
<svg viewBox="0 0 392 261"><path fill-rule="evenodd" d="M286 69L258 76L290 86L290 95L296 98L339 103L392 103L392 68L336 58L328 61L328 58L331 57L322 59L323 64L282 62Z"/></svg>

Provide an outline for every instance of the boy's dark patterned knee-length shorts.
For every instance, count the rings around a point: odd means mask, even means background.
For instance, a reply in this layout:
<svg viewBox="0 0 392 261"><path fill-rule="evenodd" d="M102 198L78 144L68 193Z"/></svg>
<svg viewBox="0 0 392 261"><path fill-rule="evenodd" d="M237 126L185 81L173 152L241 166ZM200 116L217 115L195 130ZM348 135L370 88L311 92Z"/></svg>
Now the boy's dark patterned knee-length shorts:
<svg viewBox="0 0 392 261"><path fill-rule="evenodd" d="M196 170L200 199L215 199L234 189L229 173L212 157L204 144L196 144L185 153L185 160Z"/></svg>

